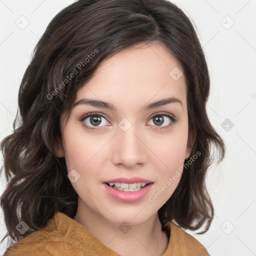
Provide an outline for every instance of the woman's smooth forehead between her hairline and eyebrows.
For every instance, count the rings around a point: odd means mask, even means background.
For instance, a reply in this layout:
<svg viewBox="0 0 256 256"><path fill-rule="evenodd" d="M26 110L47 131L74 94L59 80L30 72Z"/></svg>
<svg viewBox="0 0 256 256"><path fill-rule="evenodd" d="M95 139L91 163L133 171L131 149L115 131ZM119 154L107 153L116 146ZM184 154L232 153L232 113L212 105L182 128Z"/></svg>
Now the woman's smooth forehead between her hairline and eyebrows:
<svg viewBox="0 0 256 256"><path fill-rule="evenodd" d="M178 61L162 43L140 43L102 61L77 92L76 101L84 97L107 100L117 108L137 110L139 105L157 99L177 97L186 108L182 73Z"/></svg>

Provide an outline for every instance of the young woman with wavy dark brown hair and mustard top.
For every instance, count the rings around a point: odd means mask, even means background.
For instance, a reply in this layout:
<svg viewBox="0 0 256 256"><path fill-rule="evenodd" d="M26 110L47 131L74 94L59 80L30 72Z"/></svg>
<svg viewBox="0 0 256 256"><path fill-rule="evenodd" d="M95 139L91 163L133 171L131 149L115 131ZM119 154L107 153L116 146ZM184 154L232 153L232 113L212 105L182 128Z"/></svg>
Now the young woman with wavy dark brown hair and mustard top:
<svg viewBox="0 0 256 256"><path fill-rule="evenodd" d="M224 143L208 94L195 30L169 1L60 11L1 142L4 255L209 255L183 230L203 233L213 218L205 174Z"/></svg>

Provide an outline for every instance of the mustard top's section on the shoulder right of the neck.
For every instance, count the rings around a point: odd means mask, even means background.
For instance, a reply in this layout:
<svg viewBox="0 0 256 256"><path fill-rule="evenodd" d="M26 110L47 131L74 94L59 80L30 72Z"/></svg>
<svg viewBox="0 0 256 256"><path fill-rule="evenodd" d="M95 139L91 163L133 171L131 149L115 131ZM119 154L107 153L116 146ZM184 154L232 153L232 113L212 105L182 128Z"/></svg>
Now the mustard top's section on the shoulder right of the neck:
<svg viewBox="0 0 256 256"><path fill-rule="evenodd" d="M209 256L206 248L192 235L170 222L170 248L175 248L173 255Z"/></svg>

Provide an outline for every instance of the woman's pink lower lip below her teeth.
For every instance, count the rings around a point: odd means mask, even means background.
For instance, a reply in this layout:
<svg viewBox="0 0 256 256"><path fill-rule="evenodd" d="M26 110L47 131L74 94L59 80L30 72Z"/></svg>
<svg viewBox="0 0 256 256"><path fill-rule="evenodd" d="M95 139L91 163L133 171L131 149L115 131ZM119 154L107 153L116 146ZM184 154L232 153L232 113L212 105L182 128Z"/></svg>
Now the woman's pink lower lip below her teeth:
<svg viewBox="0 0 256 256"><path fill-rule="evenodd" d="M106 192L114 199L122 202L135 202L144 197L149 192L152 184L153 183L149 183L137 191L120 191L118 189L112 188L111 186L108 186L106 183L103 183L103 186L105 187Z"/></svg>

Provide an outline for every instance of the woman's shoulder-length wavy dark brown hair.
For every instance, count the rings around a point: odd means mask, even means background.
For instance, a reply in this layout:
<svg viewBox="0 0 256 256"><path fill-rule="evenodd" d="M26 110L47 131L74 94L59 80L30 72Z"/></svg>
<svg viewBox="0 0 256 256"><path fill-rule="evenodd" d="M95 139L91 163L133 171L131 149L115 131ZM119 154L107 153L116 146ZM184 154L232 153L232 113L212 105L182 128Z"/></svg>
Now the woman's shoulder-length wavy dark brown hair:
<svg viewBox="0 0 256 256"><path fill-rule="evenodd" d="M154 41L162 42L183 68L191 155L201 153L188 164L158 216L162 226L175 220L186 229L203 227L200 233L209 228L213 206L205 175L213 163L211 148L221 161L225 146L207 117L209 74L190 19L167 0L78 0L57 13L36 44L19 87L13 132L0 144L1 171L8 181L0 198L7 228L3 239L9 235L18 241L44 227L58 211L74 217L77 193L66 176L65 159L54 154L61 139L60 115L70 113L76 92L103 60ZM80 70L78 63L83 63ZM63 85L74 68L78 73ZM21 220L29 226L24 234L15 228Z"/></svg>

